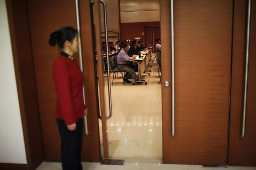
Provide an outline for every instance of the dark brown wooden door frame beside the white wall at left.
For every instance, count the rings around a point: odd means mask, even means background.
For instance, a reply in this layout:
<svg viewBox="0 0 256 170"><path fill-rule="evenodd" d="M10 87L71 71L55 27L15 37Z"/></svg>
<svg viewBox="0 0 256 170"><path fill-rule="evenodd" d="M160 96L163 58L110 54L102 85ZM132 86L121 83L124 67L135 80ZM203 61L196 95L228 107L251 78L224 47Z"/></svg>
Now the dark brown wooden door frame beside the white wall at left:
<svg viewBox="0 0 256 170"><path fill-rule="evenodd" d="M27 0L7 0L6 9L8 13L12 57L14 60L27 168L32 170L45 160L45 154L36 90L32 44L30 41ZM26 79L24 79L26 77L29 77L30 81L26 81ZM33 130L31 127L33 127ZM18 165L18 168L21 168L20 165Z"/></svg>

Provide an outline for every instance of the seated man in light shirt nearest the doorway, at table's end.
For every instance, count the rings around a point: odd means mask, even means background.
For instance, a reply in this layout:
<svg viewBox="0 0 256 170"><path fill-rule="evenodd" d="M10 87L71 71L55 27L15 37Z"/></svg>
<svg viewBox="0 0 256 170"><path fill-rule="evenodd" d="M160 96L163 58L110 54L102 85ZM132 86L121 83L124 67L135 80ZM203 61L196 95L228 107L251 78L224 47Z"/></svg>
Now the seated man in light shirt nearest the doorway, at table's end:
<svg viewBox="0 0 256 170"><path fill-rule="evenodd" d="M133 56L133 57L128 56L127 54L128 50L129 50L128 43L123 42L122 49L117 55L117 69L121 70L122 72L126 72L123 81L127 83L131 83L131 81L129 81L128 79L133 78L134 81L136 82L136 81L139 81L139 78L136 75L134 69L131 69L130 67L126 66L126 61L136 59L136 56Z"/></svg>

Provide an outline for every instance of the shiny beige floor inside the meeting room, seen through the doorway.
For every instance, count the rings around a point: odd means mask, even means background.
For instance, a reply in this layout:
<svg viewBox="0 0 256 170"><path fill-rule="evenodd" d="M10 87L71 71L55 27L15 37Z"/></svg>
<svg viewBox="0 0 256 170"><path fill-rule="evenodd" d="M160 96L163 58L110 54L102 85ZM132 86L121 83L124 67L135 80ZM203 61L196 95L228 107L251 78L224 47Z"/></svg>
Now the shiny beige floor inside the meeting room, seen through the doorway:
<svg viewBox="0 0 256 170"><path fill-rule="evenodd" d="M151 70L150 75L142 76L147 85L123 85L120 73L111 85L113 116L107 121L110 159L123 159L125 163L162 163L161 84L157 62L151 65L147 68ZM108 94L105 96L107 101ZM99 126L102 141L101 123ZM103 155L102 145L101 149Z"/></svg>

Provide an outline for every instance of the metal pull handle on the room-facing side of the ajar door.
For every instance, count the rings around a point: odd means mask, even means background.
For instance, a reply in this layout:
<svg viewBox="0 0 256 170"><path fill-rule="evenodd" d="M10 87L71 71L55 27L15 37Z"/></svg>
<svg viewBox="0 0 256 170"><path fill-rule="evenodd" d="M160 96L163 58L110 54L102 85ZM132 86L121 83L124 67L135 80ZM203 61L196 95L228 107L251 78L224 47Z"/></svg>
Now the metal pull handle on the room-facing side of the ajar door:
<svg viewBox="0 0 256 170"><path fill-rule="evenodd" d="M111 100L111 86L110 86L110 68L109 68L109 55L108 55L108 31L107 31L107 7L106 3L103 0L99 0L100 3L103 4L103 10L104 10L104 28L105 28L105 42L106 42L106 50L107 50L107 72L108 72L108 101L109 101L109 116L106 117L106 119L110 119L112 117L112 100ZM91 1L91 7L93 6L94 1ZM91 9L92 12L92 9ZM91 14L91 17L93 19L93 14ZM93 21L93 20L92 20ZM92 35L94 36L94 34ZM99 119L101 119L101 116L98 113Z"/></svg>

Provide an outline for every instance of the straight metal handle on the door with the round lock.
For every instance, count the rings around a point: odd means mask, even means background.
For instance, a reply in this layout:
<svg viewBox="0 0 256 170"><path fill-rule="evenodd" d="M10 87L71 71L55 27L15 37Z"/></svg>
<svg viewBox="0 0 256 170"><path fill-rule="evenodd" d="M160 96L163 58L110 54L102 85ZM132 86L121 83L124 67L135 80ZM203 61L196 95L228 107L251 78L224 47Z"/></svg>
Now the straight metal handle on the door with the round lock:
<svg viewBox="0 0 256 170"><path fill-rule="evenodd" d="M174 98L174 30L173 30L173 0L171 0L171 35L172 35L172 137L175 135L175 98Z"/></svg>

